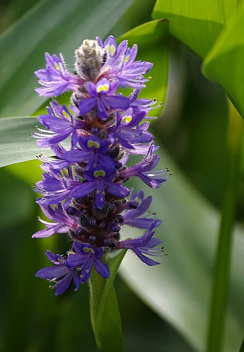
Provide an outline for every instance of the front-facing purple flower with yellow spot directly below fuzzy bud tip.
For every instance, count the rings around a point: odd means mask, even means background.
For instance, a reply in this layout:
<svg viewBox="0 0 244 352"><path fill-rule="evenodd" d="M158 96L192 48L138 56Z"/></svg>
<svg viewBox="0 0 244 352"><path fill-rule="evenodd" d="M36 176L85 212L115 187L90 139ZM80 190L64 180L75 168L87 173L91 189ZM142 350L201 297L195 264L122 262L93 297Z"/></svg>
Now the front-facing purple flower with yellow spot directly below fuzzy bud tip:
<svg viewBox="0 0 244 352"><path fill-rule="evenodd" d="M80 100L79 110L80 113L87 114L95 106L97 106L97 113L101 120L108 118L108 110L120 109L125 110L130 104L127 97L121 95L114 95L118 88L118 82L110 82L106 78L100 79L96 84L93 82L87 83L87 91L90 98Z"/></svg>

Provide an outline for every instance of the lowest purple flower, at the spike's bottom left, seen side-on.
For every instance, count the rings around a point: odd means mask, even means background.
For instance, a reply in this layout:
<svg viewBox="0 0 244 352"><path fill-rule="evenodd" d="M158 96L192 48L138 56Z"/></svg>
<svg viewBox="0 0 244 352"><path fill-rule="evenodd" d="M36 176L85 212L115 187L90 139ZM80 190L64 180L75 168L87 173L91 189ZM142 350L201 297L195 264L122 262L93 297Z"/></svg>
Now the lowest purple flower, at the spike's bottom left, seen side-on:
<svg viewBox="0 0 244 352"><path fill-rule="evenodd" d="M41 279L55 282L55 284L51 286L52 289L56 288L55 296L64 293L70 286L72 279L75 285L74 291L77 291L80 286L80 281L76 268L68 268L66 263L67 261L62 257L62 255L53 254L47 250L46 256L49 260L51 260L51 262L53 262L53 264L55 264L55 267L52 266L43 268L36 273L36 276ZM56 279L62 277L64 278L56 281Z"/></svg>

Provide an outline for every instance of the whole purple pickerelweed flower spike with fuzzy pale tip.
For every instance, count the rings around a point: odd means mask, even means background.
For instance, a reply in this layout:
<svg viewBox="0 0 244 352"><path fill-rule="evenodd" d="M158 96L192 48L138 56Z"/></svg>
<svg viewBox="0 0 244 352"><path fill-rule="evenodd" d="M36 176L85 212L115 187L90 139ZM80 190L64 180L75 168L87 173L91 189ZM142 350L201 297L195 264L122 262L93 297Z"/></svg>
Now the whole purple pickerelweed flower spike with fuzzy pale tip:
<svg viewBox="0 0 244 352"><path fill-rule="evenodd" d="M35 72L40 96L72 92L69 107L50 102L47 114L37 118L46 129L37 127L33 132L37 145L50 147L54 154L38 155L44 173L33 190L41 194L36 202L51 222L38 218L45 228L33 237L68 233L72 241L66 257L47 251L53 266L36 273L53 283L56 295L66 291L72 280L77 291L89 280L92 267L108 279L110 271L103 262L106 252L130 249L148 266L159 264L149 256L163 255L157 247L161 240L153 237L161 220L153 219L148 211L152 196L144 198L143 191L135 194L124 185L138 177L158 188L170 175L168 167L153 171L160 157L148 132L148 120L154 118L147 114L159 105L156 100L138 98L153 64L135 61L136 55L137 45L129 48L126 40L117 45L113 36L103 43L97 37L84 40L75 51L76 73L67 70L62 54L48 53L46 68ZM130 87L132 92L126 97L118 93L119 87ZM131 154L144 157L128 167ZM121 240L124 225L145 233Z"/></svg>

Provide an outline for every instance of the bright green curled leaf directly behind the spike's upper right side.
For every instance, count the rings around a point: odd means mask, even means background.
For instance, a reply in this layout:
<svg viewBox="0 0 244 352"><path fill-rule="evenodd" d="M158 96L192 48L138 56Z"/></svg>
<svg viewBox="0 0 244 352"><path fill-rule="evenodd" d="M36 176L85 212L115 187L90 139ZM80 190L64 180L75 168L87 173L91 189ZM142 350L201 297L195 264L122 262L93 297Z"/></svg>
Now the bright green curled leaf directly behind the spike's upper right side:
<svg viewBox="0 0 244 352"><path fill-rule="evenodd" d="M138 45L137 59L153 63L148 75L152 79L146 83L139 98L165 101L168 81L168 21L155 20L138 26L123 34L118 40L128 39L129 45ZM153 109L148 116L159 116L161 108Z"/></svg>

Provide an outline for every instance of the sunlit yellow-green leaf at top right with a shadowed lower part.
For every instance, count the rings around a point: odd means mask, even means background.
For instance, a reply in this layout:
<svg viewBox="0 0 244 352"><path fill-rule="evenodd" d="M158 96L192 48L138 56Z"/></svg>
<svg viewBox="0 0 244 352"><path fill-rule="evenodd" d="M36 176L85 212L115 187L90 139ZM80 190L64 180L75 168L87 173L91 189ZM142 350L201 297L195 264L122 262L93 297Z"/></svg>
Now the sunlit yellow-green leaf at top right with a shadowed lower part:
<svg viewBox="0 0 244 352"><path fill-rule="evenodd" d="M170 33L205 57L239 6L239 0L158 0L153 18L169 20Z"/></svg>

